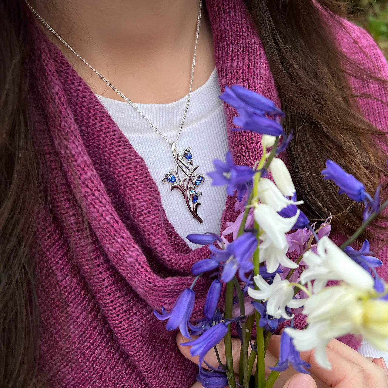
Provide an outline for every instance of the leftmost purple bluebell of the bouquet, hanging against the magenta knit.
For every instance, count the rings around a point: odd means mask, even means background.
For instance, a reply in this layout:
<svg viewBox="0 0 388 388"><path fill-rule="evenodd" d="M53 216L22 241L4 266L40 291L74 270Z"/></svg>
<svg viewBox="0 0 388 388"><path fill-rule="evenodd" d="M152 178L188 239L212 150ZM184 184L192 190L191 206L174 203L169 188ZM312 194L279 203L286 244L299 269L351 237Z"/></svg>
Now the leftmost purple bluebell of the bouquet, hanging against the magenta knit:
<svg viewBox="0 0 388 388"><path fill-rule="evenodd" d="M166 324L167 330L175 330L179 327L180 332L186 338L191 338L187 326L189 325L189 320L193 312L194 299L194 291L189 288L184 289L169 313L162 307L162 314L159 314L156 310L154 310L154 314L159 320L168 319Z"/></svg>

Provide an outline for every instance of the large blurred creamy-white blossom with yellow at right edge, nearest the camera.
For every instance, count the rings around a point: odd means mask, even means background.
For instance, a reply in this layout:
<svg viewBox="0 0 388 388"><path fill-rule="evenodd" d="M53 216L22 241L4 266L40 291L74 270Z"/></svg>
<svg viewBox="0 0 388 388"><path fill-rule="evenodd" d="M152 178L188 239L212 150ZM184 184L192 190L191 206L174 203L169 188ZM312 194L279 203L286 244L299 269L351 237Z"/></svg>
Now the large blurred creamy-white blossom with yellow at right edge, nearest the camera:
<svg viewBox="0 0 388 388"><path fill-rule="evenodd" d="M376 298L373 286L363 289L342 284L324 288L307 299L303 314L307 315L306 329L287 327L285 331L300 352L314 349L315 360L323 368L331 369L327 344L345 334L362 335L372 345L386 350L388 302Z"/></svg>

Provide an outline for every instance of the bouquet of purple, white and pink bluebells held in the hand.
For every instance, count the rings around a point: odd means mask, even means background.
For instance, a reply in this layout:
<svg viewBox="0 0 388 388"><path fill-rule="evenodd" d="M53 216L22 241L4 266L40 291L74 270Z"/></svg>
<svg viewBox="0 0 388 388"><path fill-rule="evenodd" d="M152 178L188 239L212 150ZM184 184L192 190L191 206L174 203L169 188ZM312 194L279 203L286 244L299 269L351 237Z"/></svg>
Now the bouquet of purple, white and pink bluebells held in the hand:
<svg viewBox="0 0 388 388"><path fill-rule="evenodd" d="M296 371L308 373L310 365L300 358L304 350L314 349L316 362L330 369L326 345L345 334L362 335L386 349L388 286L375 270L382 262L373 256L367 240L359 250L350 246L388 205L388 201L380 204L380 188L372 196L361 182L327 160L324 179L338 185L338 194L365 205L362 225L336 246L328 237L331 218L319 227L310 224L298 209L303 201L296 198L289 171L277 158L292 140L292 133L286 136L282 127L284 113L274 102L237 85L226 88L220 98L237 110L236 126L262 134L263 156L253 168L234 165L230 153L226 163L214 161L215 171L208 175L214 185L226 185L229 195L237 192L235 210L240 213L235 222L227 223L222 236L210 232L187 236L191 242L209 245L211 255L192 266L196 276L192 286L178 296L171 311L162 308L162 314L154 312L158 319L168 320L168 330L179 327L190 340L182 345L191 346L191 355L199 356L197 380L204 387L248 388L257 358L255 387L271 388L290 364ZM226 239L230 234L232 238ZM214 280L204 303L204 317L190 322L194 285L209 273L207 277ZM326 287L329 281L337 282ZM224 284L225 305L220 306ZM293 327L295 313L305 315L305 329ZM236 324L242 343L239 383L233 372L232 324ZM265 380L268 341L283 326L280 357ZM217 367L206 364L206 353L212 348L217 353L215 346L222 339L226 363L218 357Z"/></svg>

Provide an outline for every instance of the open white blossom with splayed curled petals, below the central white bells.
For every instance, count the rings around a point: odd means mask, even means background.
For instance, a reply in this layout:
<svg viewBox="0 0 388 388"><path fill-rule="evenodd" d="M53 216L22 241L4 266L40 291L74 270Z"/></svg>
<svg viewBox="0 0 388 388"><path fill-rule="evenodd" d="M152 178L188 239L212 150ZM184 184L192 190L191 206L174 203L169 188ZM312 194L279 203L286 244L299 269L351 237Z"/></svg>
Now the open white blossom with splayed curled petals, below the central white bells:
<svg viewBox="0 0 388 388"><path fill-rule="evenodd" d="M294 288L288 280L282 280L279 274L276 274L272 284L268 284L260 275L254 278L258 290L249 288L248 295L256 300L267 300L267 313L274 318L283 317L291 319L286 311L286 307L299 308L305 303L305 299L293 299Z"/></svg>

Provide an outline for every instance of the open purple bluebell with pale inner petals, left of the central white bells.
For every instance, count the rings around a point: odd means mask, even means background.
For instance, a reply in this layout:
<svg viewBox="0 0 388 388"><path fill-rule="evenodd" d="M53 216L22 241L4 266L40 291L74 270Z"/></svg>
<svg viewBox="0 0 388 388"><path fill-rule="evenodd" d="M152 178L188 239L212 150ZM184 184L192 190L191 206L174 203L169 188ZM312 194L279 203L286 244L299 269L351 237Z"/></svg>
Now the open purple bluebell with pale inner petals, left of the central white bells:
<svg viewBox="0 0 388 388"><path fill-rule="evenodd" d="M257 246L257 239L252 232L246 232L231 242L226 249L210 246L213 258L224 262L221 280L229 282L238 271L241 280L246 281L245 274L253 270L250 260Z"/></svg>

